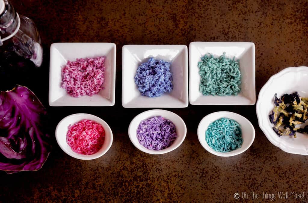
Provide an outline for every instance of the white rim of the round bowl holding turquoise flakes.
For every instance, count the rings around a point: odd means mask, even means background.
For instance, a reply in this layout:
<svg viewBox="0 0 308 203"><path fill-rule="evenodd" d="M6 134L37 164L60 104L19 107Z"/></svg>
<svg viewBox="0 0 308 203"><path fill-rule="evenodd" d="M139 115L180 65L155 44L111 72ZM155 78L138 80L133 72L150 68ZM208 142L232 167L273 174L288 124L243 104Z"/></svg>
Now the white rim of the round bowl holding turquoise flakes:
<svg viewBox="0 0 308 203"><path fill-rule="evenodd" d="M247 145L247 147L245 148L238 148L234 151L229 151L229 152L218 152L218 151L215 151L213 150L208 144L207 142L205 141L205 135L204 134L200 134L199 131L200 131L200 128L201 128L201 124L206 120L208 119L208 117L212 116L213 114L217 114L217 113L230 113L230 114L233 114L234 116L237 116L237 117L241 117L242 119L244 119L250 126L251 129L253 129L253 133L252 133L252 139L251 141L249 142L249 144ZM198 129L197 129L197 132L198 132L198 140L200 142L200 144L202 145L203 148L205 148L206 151L210 152L211 154L213 155L217 155L217 156L222 156L222 157L230 157L230 156L235 156L235 155L239 155L243 152L245 152L247 149L249 149L249 147L253 144L253 141L255 139L255 135L256 135L256 132L254 130L254 127L253 127L253 124L251 124L251 122L245 118L244 116L238 114L238 113L234 113L234 112L231 112L231 111L217 111L217 112L213 112L213 113L210 113L208 115L206 115L205 117L203 117L200 121L200 123L198 124Z"/></svg>

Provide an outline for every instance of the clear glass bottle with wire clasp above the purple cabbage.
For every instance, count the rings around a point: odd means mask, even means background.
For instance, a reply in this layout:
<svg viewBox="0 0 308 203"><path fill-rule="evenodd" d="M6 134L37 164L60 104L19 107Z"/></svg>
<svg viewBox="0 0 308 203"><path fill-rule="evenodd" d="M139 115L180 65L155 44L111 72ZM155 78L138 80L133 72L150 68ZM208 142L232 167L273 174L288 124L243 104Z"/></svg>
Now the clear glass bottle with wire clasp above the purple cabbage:
<svg viewBox="0 0 308 203"><path fill-rule="evenodd" d="M29 79L26 74L42 61L41 38L34 22L18 15L7 0L0 0L0 89Z"/></svg>

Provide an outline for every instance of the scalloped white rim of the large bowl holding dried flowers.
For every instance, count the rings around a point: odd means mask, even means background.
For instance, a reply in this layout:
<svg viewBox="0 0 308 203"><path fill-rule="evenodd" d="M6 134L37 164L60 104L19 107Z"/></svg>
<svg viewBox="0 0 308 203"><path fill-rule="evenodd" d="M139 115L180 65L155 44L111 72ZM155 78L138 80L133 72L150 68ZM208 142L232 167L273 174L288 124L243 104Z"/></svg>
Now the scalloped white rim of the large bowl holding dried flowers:
<svg viewBox="0 0 308 203"><path fill-rule="evenodd" d="M306 67L306 66L288 67L288 68L285 68L282 71L276 73L275 75L271 76L270 79L264 84L264 86L260 90L258 100L257 100L257 105L256 105L256 113L257 113L259 127L261 128L262 132L265 134L267 139L272 144L274 144L276 147L279 147L282 151L285 151L285 152L288 152L288 153L291 153L291 154L308 155L308 147L306 147L305 152L294 151L290 146L287 146L287 145L285 145L281 142L276 142L274 139L272 139L272 137L270 136L271 133L263 125L264 119L260 117L261 116L261 113L260 113L260 111L261 111L260 110L261 109L261 100L260 100L260 98L263 97L263 94L265 93L265 91L270 87L270 85L272 84L274 79L277 79L277 78L281 77L282 75L287 74L289 72L293 72L293 71L296 71L296 72L306 71L306 72L308 72L308 67Z"/></svg>

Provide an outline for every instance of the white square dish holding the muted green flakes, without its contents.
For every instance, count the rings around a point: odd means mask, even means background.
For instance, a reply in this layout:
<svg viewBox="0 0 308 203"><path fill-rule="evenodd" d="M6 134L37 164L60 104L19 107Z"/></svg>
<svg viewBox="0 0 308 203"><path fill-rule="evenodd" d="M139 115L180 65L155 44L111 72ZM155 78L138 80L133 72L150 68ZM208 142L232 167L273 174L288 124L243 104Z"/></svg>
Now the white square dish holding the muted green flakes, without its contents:
<svg viewBox="0 0 308 203"><path fill-rule="evenodd" d="M237 96L202 95L198 62L206 54L239 59L241 92ZM189 103L192 105L254 105L256 103L255 48L252 42L191 42L189 44Z"/></svg>

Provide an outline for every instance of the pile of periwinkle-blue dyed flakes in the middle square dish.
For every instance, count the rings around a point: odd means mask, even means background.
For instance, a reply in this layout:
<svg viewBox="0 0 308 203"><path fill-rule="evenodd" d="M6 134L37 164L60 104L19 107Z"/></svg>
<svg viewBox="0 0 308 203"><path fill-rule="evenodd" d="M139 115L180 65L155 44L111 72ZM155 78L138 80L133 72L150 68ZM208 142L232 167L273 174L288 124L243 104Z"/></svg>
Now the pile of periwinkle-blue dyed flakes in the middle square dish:
<svg viewBox="0 0 308 203"><path fill-rule="evenodd" d="M159 97L173 89L170 63L154 58L142 63L136 72L135 83L142 96Z"/></svg>

